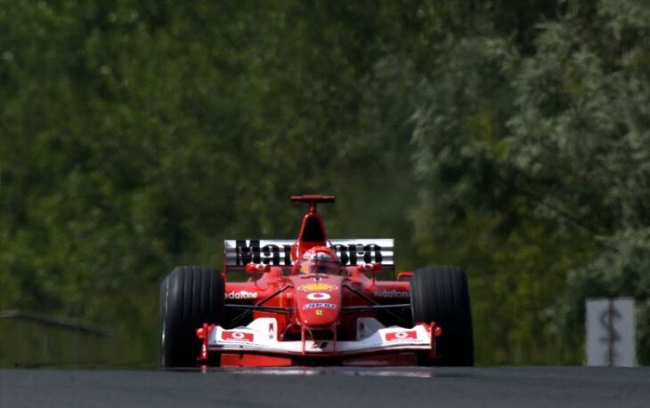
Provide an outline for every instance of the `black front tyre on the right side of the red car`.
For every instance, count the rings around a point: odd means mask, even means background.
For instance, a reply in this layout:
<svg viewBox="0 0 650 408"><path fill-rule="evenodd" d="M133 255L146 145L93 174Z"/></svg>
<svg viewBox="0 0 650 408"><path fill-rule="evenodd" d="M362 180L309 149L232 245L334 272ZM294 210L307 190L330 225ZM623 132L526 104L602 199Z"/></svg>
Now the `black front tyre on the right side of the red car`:
<svg viewBox="0 0 650 408"><path fill-rule="evenodd" d="M467 276L459 267L418 268L410 280L410 307L416 323L435 322L442 329L436 354L416 356L418 365L474 365L472 313Z"/></svg>

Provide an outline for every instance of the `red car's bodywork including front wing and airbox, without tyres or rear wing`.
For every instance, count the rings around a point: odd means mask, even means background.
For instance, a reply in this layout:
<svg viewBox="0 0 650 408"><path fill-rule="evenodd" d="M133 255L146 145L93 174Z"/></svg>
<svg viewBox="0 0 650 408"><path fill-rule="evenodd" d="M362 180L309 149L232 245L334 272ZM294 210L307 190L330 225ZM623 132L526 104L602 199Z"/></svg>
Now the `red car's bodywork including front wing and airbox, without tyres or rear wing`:
<svg viewBox="0 0 650 408"><path fill-rule="evenodd" d="M366 252L345 252L340 275L298 273L296 261L302 253L331 246L316 204L332 203L334 197L294 196L292 201L309 204L292 244L284 250L280 245L240 246L230 257L226 251L224 279L225 272L237 269L235 260L239 265L250 260L244 268L253 276L248 282L226 282L226 321L197 330L203 341L199 363L413 364L414 353L435 356L441 329L434 322L410 322L411 273L380 281L375 275L386 265L366 262L372 256L382 260L378 245L367 245ZM260 253L264 256L255 262Z"/></svg>

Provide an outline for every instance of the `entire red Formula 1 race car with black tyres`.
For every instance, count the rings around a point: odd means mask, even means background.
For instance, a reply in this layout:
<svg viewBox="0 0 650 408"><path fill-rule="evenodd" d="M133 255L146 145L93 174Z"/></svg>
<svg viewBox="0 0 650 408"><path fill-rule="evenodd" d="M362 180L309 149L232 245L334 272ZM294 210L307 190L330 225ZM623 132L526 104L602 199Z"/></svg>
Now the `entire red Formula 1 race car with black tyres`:
<svg viewBox="0 0 650 408"><path fill-rule="evenodd" d="M319 203L296 240L226 240L224 273L177 267L160 285L161 364L473 365L467 277L394 271L392 239L329 240ZM248 282L227 282L245 270Z"/></svg>

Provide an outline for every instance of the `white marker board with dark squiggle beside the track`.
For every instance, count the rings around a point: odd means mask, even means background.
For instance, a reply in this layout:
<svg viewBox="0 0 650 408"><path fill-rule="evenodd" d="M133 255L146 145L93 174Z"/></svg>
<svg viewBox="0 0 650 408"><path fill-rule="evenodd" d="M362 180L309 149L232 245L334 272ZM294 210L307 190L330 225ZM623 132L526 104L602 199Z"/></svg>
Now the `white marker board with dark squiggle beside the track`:
<svg viewBox="0 0 650 408"><path fill-rule="evenodd" d="M634 299L588 299L587 365L636 365Z"/></svg>

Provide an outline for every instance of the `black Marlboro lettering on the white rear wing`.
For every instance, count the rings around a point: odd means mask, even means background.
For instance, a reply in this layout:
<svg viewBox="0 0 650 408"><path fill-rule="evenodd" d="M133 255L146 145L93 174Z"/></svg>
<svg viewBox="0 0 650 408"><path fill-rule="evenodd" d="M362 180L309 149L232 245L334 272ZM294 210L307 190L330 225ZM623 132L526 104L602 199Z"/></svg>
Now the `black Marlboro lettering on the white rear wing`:
<svg viewBox="0 0 650 408"><path fill-rule="evenodd" d="M384 259L382 247L378 244L335 244L332 249L337 252L338 260L343 265L373 263ZM235 265L246 266L248 263L266 265L291 265L290 244L268 244L260 246L259 239L235 240Z"/></svg>

